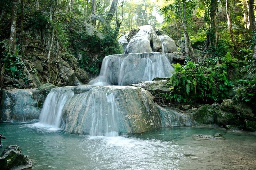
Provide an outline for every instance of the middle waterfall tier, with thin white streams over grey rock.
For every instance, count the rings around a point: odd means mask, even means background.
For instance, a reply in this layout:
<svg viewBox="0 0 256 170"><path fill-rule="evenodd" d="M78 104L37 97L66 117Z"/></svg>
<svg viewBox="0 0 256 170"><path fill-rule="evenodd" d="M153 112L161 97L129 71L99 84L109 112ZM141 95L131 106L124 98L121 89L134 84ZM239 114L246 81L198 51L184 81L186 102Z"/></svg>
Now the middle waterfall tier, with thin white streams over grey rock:
<svg viewBox="0 0 256 170"><path fill-rule="evenodd" d="M171 60L171 53L108 55L102 61L100 76L89 85L131 85L169 77L173 72Z"/></svg>

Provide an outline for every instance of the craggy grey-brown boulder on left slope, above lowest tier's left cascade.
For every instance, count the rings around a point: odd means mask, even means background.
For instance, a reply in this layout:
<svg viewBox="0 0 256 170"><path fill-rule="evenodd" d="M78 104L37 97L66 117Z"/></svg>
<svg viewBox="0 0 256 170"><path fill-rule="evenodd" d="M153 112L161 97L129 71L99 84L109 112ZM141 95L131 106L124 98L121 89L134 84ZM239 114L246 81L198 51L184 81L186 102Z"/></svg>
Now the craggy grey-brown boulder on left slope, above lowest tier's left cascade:
<svg viewBox="0 0 256 170"><path fill-rule="evenodd" d="M76 77L75 71L62 59L59 62L59 75L63 79L64 85L73 85Z"/></svg>

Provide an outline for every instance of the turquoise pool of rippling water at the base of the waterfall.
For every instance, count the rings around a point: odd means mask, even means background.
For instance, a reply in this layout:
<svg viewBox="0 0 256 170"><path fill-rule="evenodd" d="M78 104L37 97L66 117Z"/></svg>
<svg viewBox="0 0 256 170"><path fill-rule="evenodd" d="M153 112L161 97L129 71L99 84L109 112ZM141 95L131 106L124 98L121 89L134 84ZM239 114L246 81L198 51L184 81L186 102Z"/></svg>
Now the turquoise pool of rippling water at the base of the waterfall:
<svg viewBox="0 0 256 170"><path fill-rule="evenodd" d="M226 140L193 134L224 134ZM39 123L1 123L3 147L17 144L33 169L256 169L256 136L212 126L118 137L84 136Z"/></svg>

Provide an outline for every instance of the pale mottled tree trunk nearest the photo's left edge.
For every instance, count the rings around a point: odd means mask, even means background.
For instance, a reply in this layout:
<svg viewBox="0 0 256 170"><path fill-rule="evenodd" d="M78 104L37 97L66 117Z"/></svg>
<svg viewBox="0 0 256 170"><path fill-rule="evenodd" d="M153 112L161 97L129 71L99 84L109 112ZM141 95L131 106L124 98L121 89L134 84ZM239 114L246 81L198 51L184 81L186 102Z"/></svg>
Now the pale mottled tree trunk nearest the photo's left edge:
<svg viewBox="0 0 256 170"><path fill-rule="evenodd" d="M12 25L11 25L11 33L9 39L9 53L16 53L16 17L17 17L17 4L18 0L12 0Z"/></svg>

